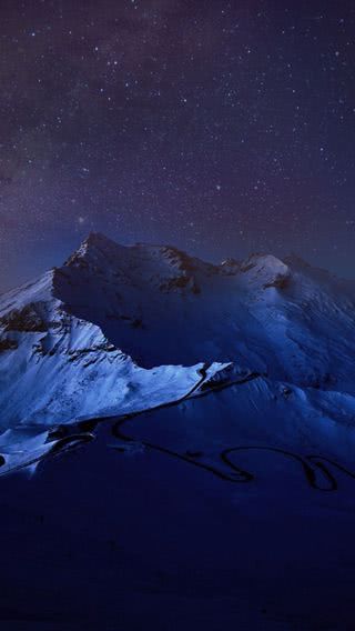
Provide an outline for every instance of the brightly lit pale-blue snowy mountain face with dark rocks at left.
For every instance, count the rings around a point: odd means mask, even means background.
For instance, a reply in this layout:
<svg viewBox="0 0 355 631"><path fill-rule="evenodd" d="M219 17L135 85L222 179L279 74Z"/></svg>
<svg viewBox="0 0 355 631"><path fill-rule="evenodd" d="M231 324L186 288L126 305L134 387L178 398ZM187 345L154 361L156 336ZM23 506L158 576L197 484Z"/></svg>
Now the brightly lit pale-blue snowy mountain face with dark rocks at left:
<svg viewBox="0 0 355 631"><path fill-rule="evenodd" d="M2 427L128 413L179 399L200 381L201 362L138 367L54 297L55 273L1 300ZM207 374L224 365L212 364Z"/></svg>

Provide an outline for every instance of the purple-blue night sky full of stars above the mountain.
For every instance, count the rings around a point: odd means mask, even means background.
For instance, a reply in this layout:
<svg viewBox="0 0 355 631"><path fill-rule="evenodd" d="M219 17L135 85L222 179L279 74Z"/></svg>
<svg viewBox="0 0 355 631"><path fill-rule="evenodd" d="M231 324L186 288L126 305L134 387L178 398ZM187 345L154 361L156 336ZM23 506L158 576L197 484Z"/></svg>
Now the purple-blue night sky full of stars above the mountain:
<svg viewBox="0 0 355 631"><path fill-rule="evenodd" d="M0 291L92 230L355 278L353 1L1 0L0 47Z"/></svg>

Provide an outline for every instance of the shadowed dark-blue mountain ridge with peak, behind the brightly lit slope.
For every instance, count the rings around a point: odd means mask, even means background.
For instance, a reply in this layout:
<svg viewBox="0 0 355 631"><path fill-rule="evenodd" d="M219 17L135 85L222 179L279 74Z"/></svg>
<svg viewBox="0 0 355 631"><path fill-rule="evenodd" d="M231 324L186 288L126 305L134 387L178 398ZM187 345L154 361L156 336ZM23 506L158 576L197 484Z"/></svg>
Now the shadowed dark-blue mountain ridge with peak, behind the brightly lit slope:
<svg viewBox="0 0 355 631"><path fill-rule="evenodd" d="M233 361L300 385L354 391L355 283L301 260L211 266L171 247L91 234L54 296L143 365Z"/></svg>

